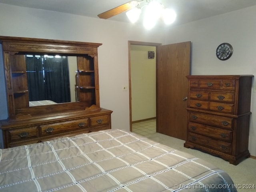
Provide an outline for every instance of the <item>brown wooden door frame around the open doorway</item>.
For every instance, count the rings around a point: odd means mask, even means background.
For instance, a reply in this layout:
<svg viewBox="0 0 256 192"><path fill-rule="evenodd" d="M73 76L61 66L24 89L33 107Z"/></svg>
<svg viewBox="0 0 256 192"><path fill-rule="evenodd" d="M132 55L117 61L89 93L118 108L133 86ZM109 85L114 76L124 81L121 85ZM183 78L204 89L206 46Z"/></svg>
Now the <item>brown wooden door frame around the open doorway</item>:
<svg viewBox="0 0 256 192"><path fill-rule="evenodd" d="M129 114L130 114L130 131L132 131L132 84L131 84L131 63L130 63L130 50L131 45L144 45L144 46L160 46L162 43L141 42L141 41L128 41L128 73L129 73ZM157 54L157 53L156 53Z"/></svg>

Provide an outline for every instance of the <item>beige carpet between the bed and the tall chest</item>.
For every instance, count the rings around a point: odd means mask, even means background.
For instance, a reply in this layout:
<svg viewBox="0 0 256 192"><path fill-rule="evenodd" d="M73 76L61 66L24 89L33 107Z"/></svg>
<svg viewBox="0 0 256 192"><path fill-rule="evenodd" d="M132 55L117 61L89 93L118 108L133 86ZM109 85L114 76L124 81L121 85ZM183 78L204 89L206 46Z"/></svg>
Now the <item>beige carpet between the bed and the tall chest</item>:
<svg viewBox="0 0 256 192"><path fill-rule="evenodd" d="M172 148L192 154L198 158L202 158L218 166L220 169L226 171L230 175L234 181L234 184L238 186L238 192L256 192L256 159L246 158L240 164L235 166L222 158L212 156L199 150L185 148L183 146L185 142L184 140L166 136L160 133L150 134L147 137L161 144L165 144Z"/></svg>

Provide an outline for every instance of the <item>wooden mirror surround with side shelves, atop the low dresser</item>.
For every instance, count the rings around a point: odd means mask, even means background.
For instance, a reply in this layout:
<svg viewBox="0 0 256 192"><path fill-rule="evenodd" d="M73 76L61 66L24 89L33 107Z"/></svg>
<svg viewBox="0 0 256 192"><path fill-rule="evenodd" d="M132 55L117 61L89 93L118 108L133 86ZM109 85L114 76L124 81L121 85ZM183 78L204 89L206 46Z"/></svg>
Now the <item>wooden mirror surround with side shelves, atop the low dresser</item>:
<svg viewBox="0 0 256 192"><path fill-rule="evenodd" d="M87 112L100 109L98 47L102 45L101 43L0 36L0 44L2 44L4 58L8 117L10 119L24 120L38 116L48 117L60 113L70 114L80 110ZM73 78L68 79L70 85L67 92L70 94L70 102L60 101L60 103L56 102L58 104L29 106L31 89L36 88L39 92L40 86L28 87L26 54L43 56L44 54L52 56L60 54L60 56L66 56L68 60L71 59L76 63L74 64L76 68L69 70L70 74L68 74L70 77L73 76ZM28 71L33 70L32 68ZM77 71L76 74L75 71ZM52 74L58 76L62 73ZM75 88L74 81L77 82ZM75 96L74 89L77 91ZM57 94L60 93L57 92ZM36 101L38 99L33 98L31 100ZM79 102L73 102L78 100Z"/></svg>

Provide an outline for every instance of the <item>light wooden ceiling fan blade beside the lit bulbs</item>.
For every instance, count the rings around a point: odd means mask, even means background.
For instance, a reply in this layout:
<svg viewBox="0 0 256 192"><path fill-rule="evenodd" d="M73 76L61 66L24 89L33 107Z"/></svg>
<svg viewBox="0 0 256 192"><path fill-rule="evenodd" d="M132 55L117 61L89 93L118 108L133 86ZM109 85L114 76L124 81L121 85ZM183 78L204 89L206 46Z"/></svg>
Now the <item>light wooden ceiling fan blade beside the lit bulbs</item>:
<svg viewBox="0 0 256 192"><path fill-rule="evenodd" d="M98 14L98 17L101 18L101 19L108 19L110 17L113 17L117 14L120 14L124 11L127 11L127 10L130 10L136 6L138 6L140 4L139 1L130 1L128 3L125 3L125 4L122 4L118 7L115 7L113 9L110 9L104 13L101 13L101 14Z"/></svg>

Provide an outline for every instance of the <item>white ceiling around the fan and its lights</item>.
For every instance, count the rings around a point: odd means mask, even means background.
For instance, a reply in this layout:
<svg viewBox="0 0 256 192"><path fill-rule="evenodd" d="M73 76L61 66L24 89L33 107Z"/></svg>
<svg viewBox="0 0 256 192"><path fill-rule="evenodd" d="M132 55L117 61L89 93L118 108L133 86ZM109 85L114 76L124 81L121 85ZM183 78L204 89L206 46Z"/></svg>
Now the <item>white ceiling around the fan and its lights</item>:
<svg viewBox="0 0 256 192"><path fill-rule="evenodd" d="M176 11L180 25L256 5L256 0L158 0ZM98 14L129 0L0 0L0 3L98 18ZM143 11L143 9L142 9ZM125 13L108 20L129 22ZM140 22L140 21L139 21ZM224 22L224 21L220 21Z"/></svg>

